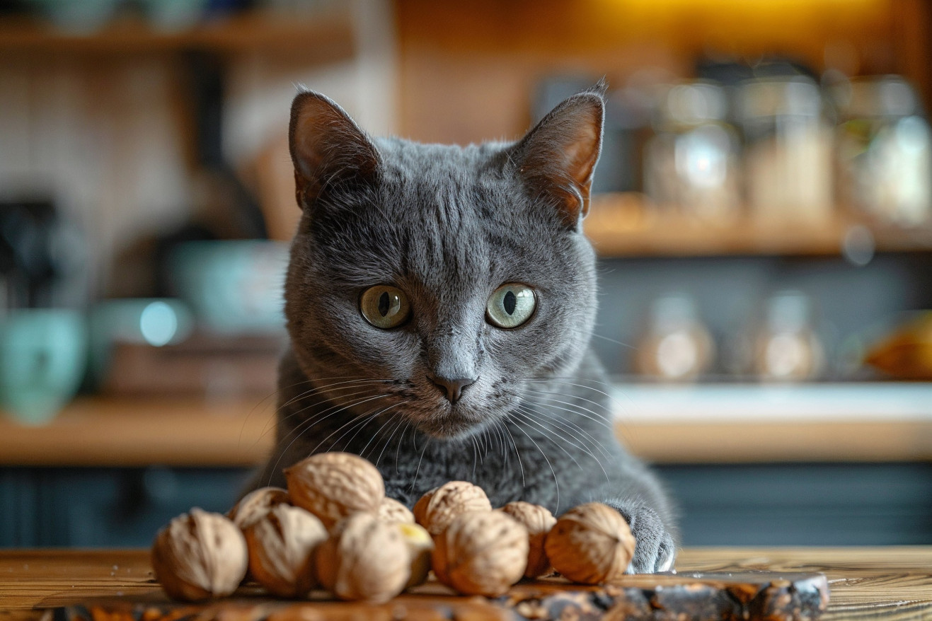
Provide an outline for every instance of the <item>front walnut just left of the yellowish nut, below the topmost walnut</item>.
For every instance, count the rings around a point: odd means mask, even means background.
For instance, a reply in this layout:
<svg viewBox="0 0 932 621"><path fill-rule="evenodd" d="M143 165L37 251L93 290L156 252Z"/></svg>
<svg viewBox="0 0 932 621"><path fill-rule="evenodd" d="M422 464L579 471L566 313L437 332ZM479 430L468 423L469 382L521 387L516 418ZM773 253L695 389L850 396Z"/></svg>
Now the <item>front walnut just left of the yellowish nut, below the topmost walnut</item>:
<svg viewBox="0 0 932 621"><path fill-rule="evenodd" d="M391 600L411 573L401 529L375 513L354 513L337 523L315 559L321 584L341 600Z"/></svg>

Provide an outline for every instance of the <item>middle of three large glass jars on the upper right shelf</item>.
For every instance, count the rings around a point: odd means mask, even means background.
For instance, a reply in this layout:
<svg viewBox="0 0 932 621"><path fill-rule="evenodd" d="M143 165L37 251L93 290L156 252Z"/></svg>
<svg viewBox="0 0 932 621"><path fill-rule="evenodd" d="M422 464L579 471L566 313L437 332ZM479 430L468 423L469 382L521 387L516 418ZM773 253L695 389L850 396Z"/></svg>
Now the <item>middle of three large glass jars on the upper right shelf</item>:
<svg viewBox="0 0 932 621"><path fill-rule="evenodd" d="M767 223L824 224L833 210L832 129L803 76L745 82L737 93L747 203Z"/></svg>

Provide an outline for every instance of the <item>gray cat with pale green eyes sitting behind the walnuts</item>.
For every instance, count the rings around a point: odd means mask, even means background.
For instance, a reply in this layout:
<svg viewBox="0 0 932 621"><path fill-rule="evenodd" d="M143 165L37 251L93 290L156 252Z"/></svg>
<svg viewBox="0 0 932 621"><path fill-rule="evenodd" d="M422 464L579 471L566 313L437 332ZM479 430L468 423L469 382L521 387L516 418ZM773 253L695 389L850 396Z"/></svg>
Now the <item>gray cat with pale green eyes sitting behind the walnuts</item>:
<svg viewBox="0 0 932 621"><path fill-rule="evenodd" d="M669 502L619 445L589 341L595 255L581 232L604 86L518 142L368 137L314 92L290 126L304 210L291 250L277 448L252 487L314 452L374 463L407 506L461 479L493 506L601 501L669 570Z"/></svg>

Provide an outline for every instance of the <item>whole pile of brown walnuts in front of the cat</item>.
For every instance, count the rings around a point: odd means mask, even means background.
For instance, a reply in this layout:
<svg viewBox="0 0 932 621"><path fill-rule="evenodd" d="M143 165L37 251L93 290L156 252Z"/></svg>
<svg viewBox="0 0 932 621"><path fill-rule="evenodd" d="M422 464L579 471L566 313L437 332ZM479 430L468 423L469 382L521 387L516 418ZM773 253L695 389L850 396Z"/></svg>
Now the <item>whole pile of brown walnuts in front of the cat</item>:
<svg viewBox="0 0 932 621"><path fill-rule="evenodd" d="M152 565L172 598L225 597L248 577L284 598L323 587L343 600L387 601L431 569L460 593L494 597L554 571L610 582L634 553L624 518L599 503L555 520L525 502L492 510L481 488L451 481L412 514L385 497L375 466L344 452L308 457L285 477L287 491L256 490L227 516L194 508L158 532Z"/></svg>

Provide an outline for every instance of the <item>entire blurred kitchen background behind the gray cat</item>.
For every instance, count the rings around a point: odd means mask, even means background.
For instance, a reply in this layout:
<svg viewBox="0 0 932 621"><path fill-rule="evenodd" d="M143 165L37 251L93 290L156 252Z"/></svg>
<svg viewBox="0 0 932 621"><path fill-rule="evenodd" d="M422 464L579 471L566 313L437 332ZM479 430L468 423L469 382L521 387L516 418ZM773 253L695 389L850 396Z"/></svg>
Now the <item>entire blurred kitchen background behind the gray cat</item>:
<svg viewBox="0 0 932 621"><path fill-rule="evenodd" d="M683 543L932 543L930 72L925 0L0 0L0 546L266 454L295 85L466 143L603 75L594 346Z"/></svg>

